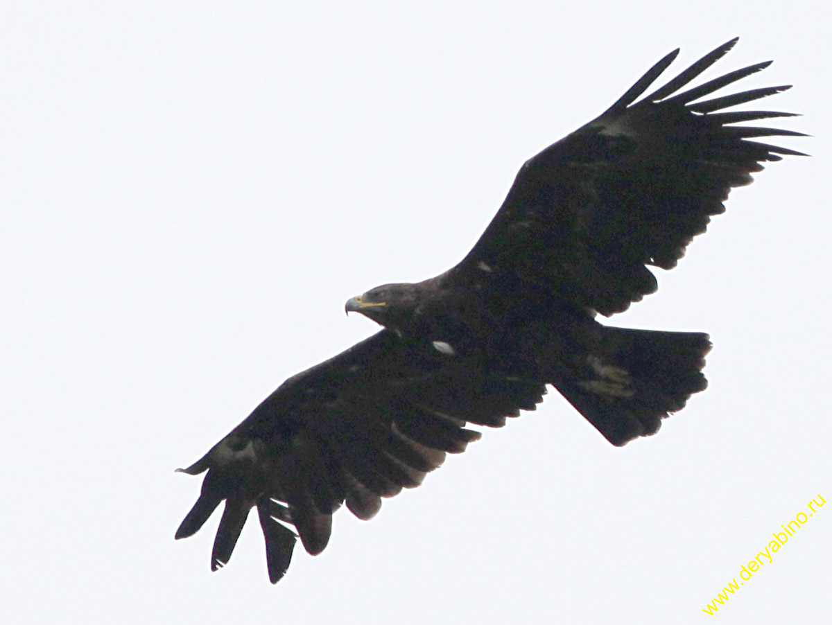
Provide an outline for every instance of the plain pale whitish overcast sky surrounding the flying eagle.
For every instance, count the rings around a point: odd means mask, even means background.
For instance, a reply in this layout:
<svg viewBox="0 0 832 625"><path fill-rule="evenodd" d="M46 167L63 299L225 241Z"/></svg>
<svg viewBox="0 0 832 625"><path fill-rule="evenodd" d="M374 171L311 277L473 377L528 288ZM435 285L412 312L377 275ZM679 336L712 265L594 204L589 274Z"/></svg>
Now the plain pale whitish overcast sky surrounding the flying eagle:
<svg viewBox="0 0 832 625"><path fill-rule="evenodd" d="M832 506L702 608L830 460L826 3L16 2L0 16L5 623L820 623ZM690 6L691 8L686 8ZM696 6L694 9L693 7ZM252 518L173 534L199 458L375 332L344 301L457 263L523 160L681 46L801 112L615 325L706 331L711 386L607 444L552 391L268 583Z"/></svg>

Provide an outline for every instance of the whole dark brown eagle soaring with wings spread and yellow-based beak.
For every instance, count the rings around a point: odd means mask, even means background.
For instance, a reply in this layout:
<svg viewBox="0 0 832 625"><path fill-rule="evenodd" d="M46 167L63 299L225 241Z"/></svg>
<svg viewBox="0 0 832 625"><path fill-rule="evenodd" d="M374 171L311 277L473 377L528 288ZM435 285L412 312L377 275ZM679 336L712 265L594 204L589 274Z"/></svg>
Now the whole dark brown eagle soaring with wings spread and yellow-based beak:
<svg viewBox="0 0 832 625"><path fill-rule="evenodd" d="M195 534L225 501L210 559L230 559L251 508L269 578L329 542L342 505L359 519L421 484L478 440L533 411L554 386L612 445L655 434L706 387L701 332L602 325L656 291L648 266L671 269L764 161L803 155L756 140L803 135L737 125L793 116L724 111L790 86L711 97L770 65L680 91L734 47L717 47L646 96L676 58L652 66L607 111L530 160L468 255L420 283L349 299L382 329L290 377L196 463L207 471L176 531ZM805 135L804 135L805 136Z"/></svg>

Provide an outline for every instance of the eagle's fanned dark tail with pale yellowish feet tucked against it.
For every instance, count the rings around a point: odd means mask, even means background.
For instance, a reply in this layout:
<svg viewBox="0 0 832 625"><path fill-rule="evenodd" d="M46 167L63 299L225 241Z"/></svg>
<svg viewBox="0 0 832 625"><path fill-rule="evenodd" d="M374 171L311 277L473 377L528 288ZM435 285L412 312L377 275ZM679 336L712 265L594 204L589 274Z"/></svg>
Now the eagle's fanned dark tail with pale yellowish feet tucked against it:
<svg viewBox="0 0 832 625"><path fill-rule="evenodd" d="M655 434L661 419L705 390L701 369L710 350L701 332L604 327L582 370L554 384L607 440L624 445Z"/></svg>

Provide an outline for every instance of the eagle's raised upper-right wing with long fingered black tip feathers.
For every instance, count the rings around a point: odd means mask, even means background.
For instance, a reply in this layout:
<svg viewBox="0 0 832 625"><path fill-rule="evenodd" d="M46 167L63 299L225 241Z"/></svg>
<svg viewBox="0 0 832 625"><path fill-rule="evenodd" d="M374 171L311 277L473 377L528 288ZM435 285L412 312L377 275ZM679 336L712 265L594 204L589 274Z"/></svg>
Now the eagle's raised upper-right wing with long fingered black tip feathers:
<svg viewBox="0 0 832 625"><path fill-rule="evenodd" d="M676 93L734 46L716 48L665 86L636 98L676 58L652 66L597 119L528 160L468 256L448 273L488 281L501 297L507 274L542 284L582 308L610 315L656 290L646 268L672 268L732 187L747 185L760 162L795 150L750 140L802 135L733 125L773 111L717 112L788 89L773 86L700 101L770 65L731 71Z"/></svg>

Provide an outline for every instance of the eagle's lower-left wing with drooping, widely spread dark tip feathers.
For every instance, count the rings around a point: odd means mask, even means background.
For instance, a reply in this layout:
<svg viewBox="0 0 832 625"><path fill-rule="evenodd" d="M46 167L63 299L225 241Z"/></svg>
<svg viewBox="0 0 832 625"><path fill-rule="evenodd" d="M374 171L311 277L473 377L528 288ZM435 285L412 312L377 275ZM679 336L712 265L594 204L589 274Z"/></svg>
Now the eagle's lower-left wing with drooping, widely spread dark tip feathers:
<svg viewBox="0 0 832 625"><path fill-rule="evenodd" d="M382 497L419 485L446 453L479 438L466 422L502 426L519 409L534 410L545 392L537 382L488 375L477 357L448 359L383 330L285 381L184 470L208 474L176 538L195 534L225 500L215 570L256 506L275 583L289 566L295 531L319 554L344 501L359 519L371 518Z"/></svg>

